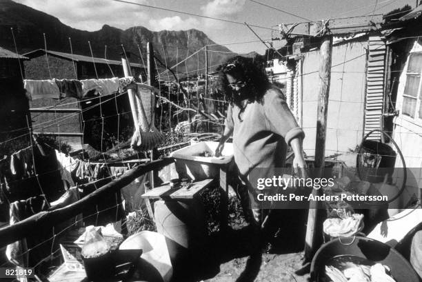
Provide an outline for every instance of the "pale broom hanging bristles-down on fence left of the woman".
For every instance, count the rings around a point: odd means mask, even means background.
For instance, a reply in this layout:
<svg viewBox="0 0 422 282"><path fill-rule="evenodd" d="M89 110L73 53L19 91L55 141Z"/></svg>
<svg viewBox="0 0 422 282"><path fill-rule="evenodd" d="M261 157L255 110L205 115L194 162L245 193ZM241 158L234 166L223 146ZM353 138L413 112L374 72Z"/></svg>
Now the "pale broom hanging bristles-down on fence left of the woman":
<svg viewBox="0 0 422 282"><path fill-rule="evenodd" d="M136 130L130 143L130 146L135 150L152 150L164 142L164 135L154 125L155 102L153 91L154 88L151 86L137 83L135 97L138 123L135 124ZM145 113L145 108L148 115Z"/></svg>

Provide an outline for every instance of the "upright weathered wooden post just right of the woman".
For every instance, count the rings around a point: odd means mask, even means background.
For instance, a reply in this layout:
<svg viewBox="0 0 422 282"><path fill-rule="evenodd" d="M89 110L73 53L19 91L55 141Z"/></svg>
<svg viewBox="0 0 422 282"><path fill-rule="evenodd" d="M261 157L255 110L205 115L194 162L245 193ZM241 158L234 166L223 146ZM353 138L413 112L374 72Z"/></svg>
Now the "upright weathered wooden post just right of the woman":
<svg viewBox="0 0 422 282"><path fill-rule="evenodd" d="M316 175L313 177L322 177L324 160L325 160L325 135L327 133L327 112L328 112L328 95L330 93L331 79L331 57L332 57L332 36L325 35L321 39L320 52L320 88L318 97L318 110L316 116L316 143L315 143L315 163ZM312 189L314 196L320 194L320 190ZM319 210L318 201L310 201L308 213L308 225L306 227L305 237L305 261L310 261L314 255L321 238L316 235L322 235L322 224L319 222L321 210Z"/></svg>

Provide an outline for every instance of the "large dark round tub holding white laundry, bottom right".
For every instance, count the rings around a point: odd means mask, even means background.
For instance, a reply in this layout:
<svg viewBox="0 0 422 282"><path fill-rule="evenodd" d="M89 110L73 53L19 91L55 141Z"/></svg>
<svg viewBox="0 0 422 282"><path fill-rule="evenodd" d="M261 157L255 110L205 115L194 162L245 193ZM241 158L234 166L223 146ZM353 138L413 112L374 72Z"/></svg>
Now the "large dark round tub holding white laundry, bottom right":
<svg viewBox="0 0 422 282"><path fill-rule="evenodd" d="M356 256L388 265L396 282L419 282L412 265L389 245L362 236L334 239L319 248L311 263L311 281L324 281L325 265L338 256Z"/></svg>

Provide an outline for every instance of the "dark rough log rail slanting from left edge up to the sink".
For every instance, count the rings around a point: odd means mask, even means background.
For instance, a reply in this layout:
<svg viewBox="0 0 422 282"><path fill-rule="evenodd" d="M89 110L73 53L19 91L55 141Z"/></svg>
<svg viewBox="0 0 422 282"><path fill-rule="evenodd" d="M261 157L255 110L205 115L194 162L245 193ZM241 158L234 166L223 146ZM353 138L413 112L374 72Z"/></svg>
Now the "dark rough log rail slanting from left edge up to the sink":
<svg viewBox="0 0 422 282"><path fill-rule="evenodd" d="M130 184L134 179L137 179L141 175L150 172L151 170L157 170L165 165L172 163L173 159L160 159L158 161L152 161L151 163L145 163L142 165L128 170L122 177L115 179L110 183L103 185L98 190L95 190L86 197L83 197L79 201L72 203L64 208L58 208L55 210L49 210L46 212L39 212L28 219L23 219L13 225L0 228L0 248L19 239L31 236L34 230L39 228L51 228L54 225L63 223L66 219L71 219L77 214L83 212L84 208L89 205L94 205L97 201L103 197L105 193L116 192L126 185ZM103 183L109 181L109 179L101 179L97 183ZM89 185L89 184L88 184Z"/></svg>

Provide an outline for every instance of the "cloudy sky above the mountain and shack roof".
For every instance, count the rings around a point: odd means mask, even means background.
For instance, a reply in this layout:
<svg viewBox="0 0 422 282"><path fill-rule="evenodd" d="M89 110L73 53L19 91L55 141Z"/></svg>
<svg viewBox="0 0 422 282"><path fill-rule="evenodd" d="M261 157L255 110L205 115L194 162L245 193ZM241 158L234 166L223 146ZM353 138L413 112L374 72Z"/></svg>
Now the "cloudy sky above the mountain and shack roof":
<svg viewBox="0 0 422 282"><path fill-rule="evenodd" d="M225 45L238 53L265 52L265 46L256 35L243 24L228 23L181 14L145 8L112 0L14 0L36 10L41 10L72 28L94 31L104 24L126 29L144 26L149 30L188 30L195 28L205 32L212 41ZM259 37L270 41L278 37L279 23L336 19L364 14L382 14L405 4L414 7L416 0L128 0L149 6L201 14L239 23L261 26L252 27ZM259 3L277 8L269 8ZM296 14L294 17L290 14ZM274 32L270 28L274 28ZM273 34L273 35L272 35ZM250 42L254 41L254 42ZM274 47L281 47L281 41L274 41ZM226 45L227 44L227 45Z"/></svg>

